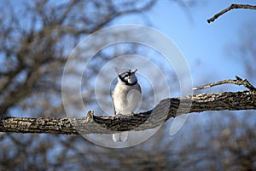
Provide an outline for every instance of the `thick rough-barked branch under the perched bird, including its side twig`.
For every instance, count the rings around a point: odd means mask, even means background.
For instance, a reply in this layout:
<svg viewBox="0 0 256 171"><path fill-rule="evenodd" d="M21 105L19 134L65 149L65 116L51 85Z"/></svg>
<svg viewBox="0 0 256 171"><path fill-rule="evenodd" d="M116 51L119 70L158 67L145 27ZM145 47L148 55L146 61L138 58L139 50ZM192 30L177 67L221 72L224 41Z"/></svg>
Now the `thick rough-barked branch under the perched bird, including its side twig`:
<svg viewBox="0 0 256 171"><path fill-rule="evenodd" d="M256 109L256 91L253 85L236 77L207 84L195 89L212 87L221 83L244 85L250 91L220 94L194 94L187 97L161 100L153 110L133 115L95 116L89 111L82 118L28 118L3 117L0 132L48 134L113 134L125 130L145 130L165 123L171 117L201 111L238 111Z"/></svg>

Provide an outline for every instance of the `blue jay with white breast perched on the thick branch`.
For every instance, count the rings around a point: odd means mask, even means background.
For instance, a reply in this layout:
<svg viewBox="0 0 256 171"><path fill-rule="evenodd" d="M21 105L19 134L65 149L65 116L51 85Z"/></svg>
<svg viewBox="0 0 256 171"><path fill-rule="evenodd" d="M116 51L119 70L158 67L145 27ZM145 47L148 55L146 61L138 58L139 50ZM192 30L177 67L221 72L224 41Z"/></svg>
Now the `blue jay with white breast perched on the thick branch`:
<svg viewBox="0 0 256 171"><path fill-rule="evenodd" d="M141 86L137 83L135 70L116 69L118 73L118 83L113 89L114 114L132 114L142 99ZM128 139L128 132L113 134L113 141L125 142Z"/></svg>

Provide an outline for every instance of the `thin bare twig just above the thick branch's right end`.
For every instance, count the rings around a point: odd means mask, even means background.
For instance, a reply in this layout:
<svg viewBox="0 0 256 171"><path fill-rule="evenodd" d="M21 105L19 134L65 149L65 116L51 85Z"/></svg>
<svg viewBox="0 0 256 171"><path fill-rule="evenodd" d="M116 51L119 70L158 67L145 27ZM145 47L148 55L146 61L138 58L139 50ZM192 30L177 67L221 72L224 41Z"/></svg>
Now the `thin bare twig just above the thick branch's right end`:
<svg viewBox="0 0 256 171"><path fill-rule="evenodd" d="M251 91L256 91L256 88L254 88L253 85L247 81L247 79L241 79L241 77L237 77L237 76L236 76L236 80L223 80L223 81L219 81L219 82L208 83L206 85L195 87L192 89L198 90L198 89L202 89L202 88L210 88L212 86L216 86L216 85L220 85L220 84L224 84L224 83L233 83L233 84L236 84L239 86L243 85L244 87L248 88Z"/></svg>

